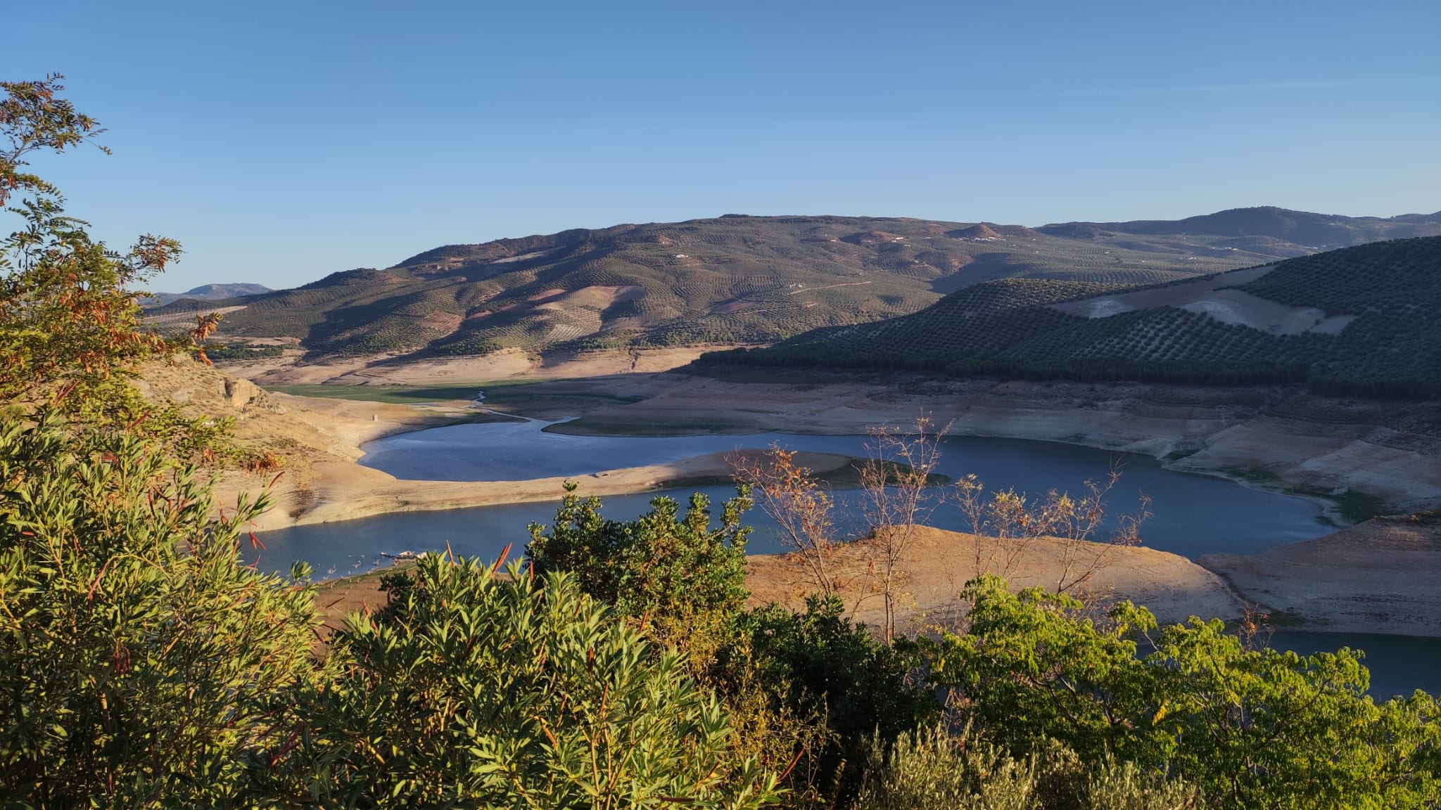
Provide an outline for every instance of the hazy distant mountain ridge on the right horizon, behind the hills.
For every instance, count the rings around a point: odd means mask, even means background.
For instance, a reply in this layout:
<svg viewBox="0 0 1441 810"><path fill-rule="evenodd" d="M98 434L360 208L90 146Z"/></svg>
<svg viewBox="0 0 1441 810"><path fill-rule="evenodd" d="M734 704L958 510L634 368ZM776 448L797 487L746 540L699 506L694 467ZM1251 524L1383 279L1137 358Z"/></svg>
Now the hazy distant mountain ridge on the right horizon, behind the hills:
<svg viewBox="0 0 1441 810"><path fill-rule="evenodd" d="M1340 216L1307 213L1284 208L1233 208L1186 219L1141 219L1136 222L1066 222L1038 228L1042 233L1069 238L1102 238L1120 233L1203 235L1229 238L1268 238L1310 249L1346 248L1379 239L1441 236L1441 212L1408 213L1382 219L1376 216ZM1251 242L1252 246L1262 242Z"/></svg>

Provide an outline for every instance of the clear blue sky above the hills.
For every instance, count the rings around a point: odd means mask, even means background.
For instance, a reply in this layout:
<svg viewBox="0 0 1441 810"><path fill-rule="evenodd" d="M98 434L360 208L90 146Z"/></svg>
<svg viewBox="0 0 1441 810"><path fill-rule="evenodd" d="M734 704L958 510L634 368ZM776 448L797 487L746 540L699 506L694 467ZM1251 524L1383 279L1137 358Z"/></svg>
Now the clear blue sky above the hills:
<svg viewBox="0 0 1441 810"><path fill-rule="evenodd" d="M720 213L1039 225L1441 209L1441 1L49 3L111 157L37 159L153 287Z"/></svg>

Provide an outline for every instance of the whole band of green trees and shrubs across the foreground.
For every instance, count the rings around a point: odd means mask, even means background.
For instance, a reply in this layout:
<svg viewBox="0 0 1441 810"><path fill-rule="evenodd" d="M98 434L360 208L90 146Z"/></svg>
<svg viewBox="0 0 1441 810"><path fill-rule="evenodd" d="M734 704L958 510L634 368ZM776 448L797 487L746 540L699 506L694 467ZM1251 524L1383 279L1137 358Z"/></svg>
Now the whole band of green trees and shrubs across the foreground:
<svg viewBox="0 0 1441 810"><path fill-rule="evenodd" d="M32 151L94 128L53 81L3 88L0 125ZM20 363L0 383L23 393L0 414L6 806L1441 801L1435 698L1376 703L1350 650L1280 653L1218 621L1160 628L1141 607L1013 594L993 575L965 587L964 623L921 638L857 627L824 594L798 613L748 608L744 486L718 525L702 496L633 522L571 496L532 526L523 564L427 555L316 657L305 566L281 578L239 561L265 497L213 502L223 458L199 448L223 431L98 399L141 402L128 376L179 346L135 331L128 259L53 195L40 205L50 190L23 154L0 154L0 193L35 195L0 268L0 347ZM99 316L114 320L97 330ZM1062 502L1046 509L1075 513ZM876 507L882 551L914 513L895 506Z"/></svg>

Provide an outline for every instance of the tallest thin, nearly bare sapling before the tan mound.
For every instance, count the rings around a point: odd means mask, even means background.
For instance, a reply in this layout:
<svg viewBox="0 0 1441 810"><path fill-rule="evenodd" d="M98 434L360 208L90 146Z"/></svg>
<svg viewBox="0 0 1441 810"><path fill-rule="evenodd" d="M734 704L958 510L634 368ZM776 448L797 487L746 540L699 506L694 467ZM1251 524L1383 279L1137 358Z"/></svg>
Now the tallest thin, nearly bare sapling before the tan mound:
<svg viewBox="0 0 1441 810"><path fill-rule="evenodd" d="M904 564L915 529L929 520L944 500L944 491L929 484L941 463L941 438L950 427L937 430L929 417L919 417L909 431L889 425L872 428L866 442L867 458L860 470L870 523L866 548L885 600L882 631L886 641L895 637L896 607L904 598L901 587L906 577Z"/></svg>

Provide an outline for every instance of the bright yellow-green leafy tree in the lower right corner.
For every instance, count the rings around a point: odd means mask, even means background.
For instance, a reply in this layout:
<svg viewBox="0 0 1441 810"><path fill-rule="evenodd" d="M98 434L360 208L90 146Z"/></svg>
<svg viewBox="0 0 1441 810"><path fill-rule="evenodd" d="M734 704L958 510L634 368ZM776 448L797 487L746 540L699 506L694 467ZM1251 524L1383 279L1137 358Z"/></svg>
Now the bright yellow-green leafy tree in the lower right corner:
<svg viewBox="0 0 1441 810"><path fill-rule="evenodd" d="M1350 650L1249 650L1196 618L1157 633L1130 602L1095 623L1069 595L996 577L965 598L970 630L931 647L931 679L1016 755L1053 738L1087 761L1159 765L1235 810L1441 801L1435 698L1376 705ZM1154 651L1138 657L1137 638Z"/></svg>

